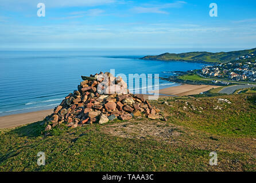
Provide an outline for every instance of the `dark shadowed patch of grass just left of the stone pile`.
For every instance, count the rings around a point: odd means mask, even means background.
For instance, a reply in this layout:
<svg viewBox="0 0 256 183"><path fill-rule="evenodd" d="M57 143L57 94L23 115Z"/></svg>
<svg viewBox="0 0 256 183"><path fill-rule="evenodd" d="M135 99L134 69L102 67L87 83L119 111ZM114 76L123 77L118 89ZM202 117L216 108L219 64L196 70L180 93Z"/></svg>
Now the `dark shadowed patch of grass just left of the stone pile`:
<svg viewBox="0 0 256 183"><path fill-rule="evenodd" d="M44 121L34 122L33 124L29 124L26 126L22 126L20 128L16 128L13 130L13 133L18 134L21 137L38 137L41 136L41 132L44 130L45 126L42 125Z"/></svg>

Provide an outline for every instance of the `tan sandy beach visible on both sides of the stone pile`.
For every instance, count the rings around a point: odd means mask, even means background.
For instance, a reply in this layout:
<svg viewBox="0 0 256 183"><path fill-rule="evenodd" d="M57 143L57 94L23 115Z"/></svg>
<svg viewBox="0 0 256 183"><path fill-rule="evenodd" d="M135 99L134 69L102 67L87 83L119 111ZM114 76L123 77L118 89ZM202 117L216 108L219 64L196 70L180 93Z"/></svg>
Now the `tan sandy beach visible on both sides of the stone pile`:
<svg viewBox="0 0 256 183"><path fill-rule="evenodd" d="M199 94L201 92L206 92L212 88L216 88L219 86L211 86L211 85L181 85L174 87L167 87L165 89L161 89L159 91L160 97L168 95L168 96L188 96L192 94ZM53 109L51 110L41 110L38 112L30 112L23 114L13 114L10 116L0 117L0 129L3 128L14 128L21 125L31 124L33 122L37 122L43 120L46 116L51 114Z"/></svg>

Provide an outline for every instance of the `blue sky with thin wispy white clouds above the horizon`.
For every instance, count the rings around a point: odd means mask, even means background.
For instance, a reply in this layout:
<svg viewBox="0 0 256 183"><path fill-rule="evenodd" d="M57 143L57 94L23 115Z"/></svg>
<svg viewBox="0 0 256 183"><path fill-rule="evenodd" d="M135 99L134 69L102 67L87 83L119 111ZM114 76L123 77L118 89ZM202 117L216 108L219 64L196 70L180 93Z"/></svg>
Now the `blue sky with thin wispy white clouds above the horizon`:
<svg viewBox="0 0 256 183"><path fill-rule="evenodd" d="M37 3L45 17L37 17ZM218 17L210 17L210 3ZM0 0L0 49L253 48L256 1Z"/></svg>

